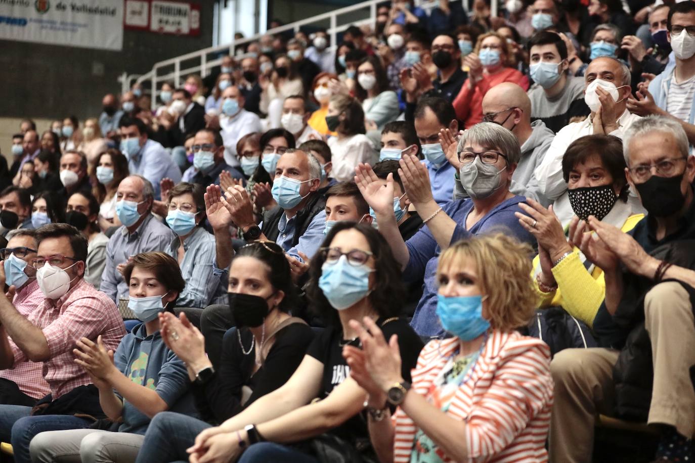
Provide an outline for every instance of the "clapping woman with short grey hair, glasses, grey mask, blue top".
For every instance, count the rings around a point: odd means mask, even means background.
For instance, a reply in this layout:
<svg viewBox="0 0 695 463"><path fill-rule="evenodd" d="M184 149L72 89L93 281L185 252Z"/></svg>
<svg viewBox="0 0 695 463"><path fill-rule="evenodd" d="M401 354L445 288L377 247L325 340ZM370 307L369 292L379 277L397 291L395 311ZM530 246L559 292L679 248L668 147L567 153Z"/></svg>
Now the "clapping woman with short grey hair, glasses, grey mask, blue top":
<svg viewBox="0 0 695 463"><path fill-rule="evenodd" d="M446 150L445 150L446 151ZM420 336L439 337L443 328L435 314L436 267L441 250L459 239L502 231L521 242L533 244L534 237L514 217L521 212L523 196L509 192L512 174L521 157L516 137L492 122L481 122L461 136L457 147L459 180L470 198L439 206L432 197L427 167L416 156L400 160L400 175L408 198L425 226L404 242L398 231L393 208L393 178L379 183L367 164L357 167L355 180L364 199L375 211L379 232L391 244L407 282L424 277L423 296L418 302L411 325Z"/></svg>

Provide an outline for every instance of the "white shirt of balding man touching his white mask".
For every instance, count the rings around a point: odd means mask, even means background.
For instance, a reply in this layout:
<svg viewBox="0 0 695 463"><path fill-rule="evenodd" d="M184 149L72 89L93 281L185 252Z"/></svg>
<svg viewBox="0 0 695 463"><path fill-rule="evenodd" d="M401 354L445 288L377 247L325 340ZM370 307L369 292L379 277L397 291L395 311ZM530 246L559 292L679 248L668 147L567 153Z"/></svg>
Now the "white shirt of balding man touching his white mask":
<svg viewBox="0 0 695 463"><path fill-rule="evenodd" d="M618 128L608 135L623 138L626 129L633 122L640 119L638 115L625 110L618 119ZM553 211L560 219L563 226L569 224L574 212L567 196L567 183L562 176L562 158L567 147L575 140L586 135L594 135L594 126L591 124L591 116L581 122L573 122L560 130L553 138L550 148L546 152L543 162L534 170L534 176L538 180L540 193L548 200L555 201Z"/></svg>

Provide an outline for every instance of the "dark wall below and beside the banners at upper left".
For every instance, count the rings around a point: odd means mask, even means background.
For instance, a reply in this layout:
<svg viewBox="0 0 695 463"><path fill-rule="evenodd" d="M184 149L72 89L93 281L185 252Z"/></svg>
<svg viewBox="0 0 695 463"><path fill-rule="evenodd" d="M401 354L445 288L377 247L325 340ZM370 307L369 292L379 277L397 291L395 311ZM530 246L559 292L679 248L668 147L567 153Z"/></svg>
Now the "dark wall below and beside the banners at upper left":
<svg viewBox="0 0 695 463"><path fill-rule="evenodd" d="M210 47L213 1L200 3L198 37L124 31L122 51L0 40L0 117L80 120L99 115L101 98L120 92L123 72L143 74L155 62ZM0 132L5 130L0 127ZM0 149L6 151L6 143Z"/></svg>

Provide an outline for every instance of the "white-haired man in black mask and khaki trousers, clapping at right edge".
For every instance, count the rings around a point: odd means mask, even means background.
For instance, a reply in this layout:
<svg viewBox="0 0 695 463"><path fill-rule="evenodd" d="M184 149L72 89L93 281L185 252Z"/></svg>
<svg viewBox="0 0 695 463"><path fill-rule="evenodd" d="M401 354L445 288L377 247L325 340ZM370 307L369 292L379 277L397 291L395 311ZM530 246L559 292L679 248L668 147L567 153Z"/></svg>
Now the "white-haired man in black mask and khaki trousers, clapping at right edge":
<svg viewBox="0 0 695 463"><path fill-rule="evenodd" d="M647 211L629 233L589 216L570 239L603 270L594 330L602 348L566 349L550 364L550 461L589 462L596 414L659 425L654 461L687 461L695 431L695 158L667 117L635 121L626 174ZM595 234L584 233L585 226ZM622 264L622 265L621 265Z"/></svg>

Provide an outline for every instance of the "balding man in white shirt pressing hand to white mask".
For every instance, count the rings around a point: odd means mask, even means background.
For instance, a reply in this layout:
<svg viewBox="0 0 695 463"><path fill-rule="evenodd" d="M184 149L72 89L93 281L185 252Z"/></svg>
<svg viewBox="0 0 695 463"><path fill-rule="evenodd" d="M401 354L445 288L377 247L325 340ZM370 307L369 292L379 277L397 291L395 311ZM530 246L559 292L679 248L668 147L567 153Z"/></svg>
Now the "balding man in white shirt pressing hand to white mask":
<svg viewBox="0 0 695 463"><path fill-rule="evenodd" d="M619 60L602 56L591 61L584 73L584 83L584 101L591 114L581 122L573 122L562 128L555 135L543 162L534 172L539 194L551 202L555 201L553 211L563 225L569 224L574 214L562 176L562 157L567 147L584 135L603 133L622 138L630 125L640 119L626 107L631 92L630 69ZM634 202L634 197L632 200Z"/></svg>

